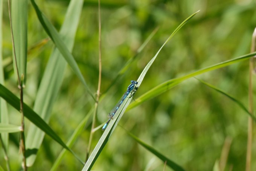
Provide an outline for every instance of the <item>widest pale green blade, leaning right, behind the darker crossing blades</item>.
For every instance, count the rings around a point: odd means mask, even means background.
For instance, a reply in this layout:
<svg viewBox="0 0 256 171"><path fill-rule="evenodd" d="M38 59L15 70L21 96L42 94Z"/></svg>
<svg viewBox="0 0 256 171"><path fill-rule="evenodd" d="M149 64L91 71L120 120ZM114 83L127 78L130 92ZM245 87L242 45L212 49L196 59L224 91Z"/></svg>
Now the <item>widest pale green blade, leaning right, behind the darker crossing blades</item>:
<svg viewBox="0 0 256 171"><path fill-rule="evenodd" d="M72 0L67 9L64 23L60 34L63 35L63 43L68 50L72 50L75 42L75 34L78 27L83 0ZM37 97L35 100L34 111L37 112L46 123L49 122L52 107L58 95L63 80L67 62L58 48L55 48L47 62L46 69L41 80ZM26 137L26 148L39 149L43 142L44 133L35 125L30 125ZM33 165L36 153L27 157L27 166Z"/></svg>

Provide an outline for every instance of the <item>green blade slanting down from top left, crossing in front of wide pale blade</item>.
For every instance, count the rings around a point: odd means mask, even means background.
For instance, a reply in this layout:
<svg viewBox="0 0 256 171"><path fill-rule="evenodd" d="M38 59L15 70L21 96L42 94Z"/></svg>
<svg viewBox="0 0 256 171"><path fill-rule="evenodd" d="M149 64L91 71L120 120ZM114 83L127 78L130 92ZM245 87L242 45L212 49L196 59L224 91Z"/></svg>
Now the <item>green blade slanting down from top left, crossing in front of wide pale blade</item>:
<svg viewBox="0 0 256 171"><path fill-rule="evenodd" d="M69 48L67 48L67 46L63 42L61 35L57 32L55 27L50 23L50 21L46 18L46 16L40 11L40 9L38 8L35 1L34 0L30 0L30 1L37 13L37 17L38 17L40 23L44 27L44 30L49 35L49 37L52 39L52 41L54 42L54 44L56 45L56 47L58 48L58 50L60 51L62 56L66 59L67 63L70 65L70 67L72 68L72 70L74 71L76 76L82 82L82 84L84 85L85 89L88 91L90 96L93 98L94 101L96 101L93 94L91 93L90 89L88 88L87 83L85 82L84 77L82 76L82 73L79 70L79 67L78 67L74 57L70 53ZM80 6L80 8L82 8L82 6Z"/></svg>

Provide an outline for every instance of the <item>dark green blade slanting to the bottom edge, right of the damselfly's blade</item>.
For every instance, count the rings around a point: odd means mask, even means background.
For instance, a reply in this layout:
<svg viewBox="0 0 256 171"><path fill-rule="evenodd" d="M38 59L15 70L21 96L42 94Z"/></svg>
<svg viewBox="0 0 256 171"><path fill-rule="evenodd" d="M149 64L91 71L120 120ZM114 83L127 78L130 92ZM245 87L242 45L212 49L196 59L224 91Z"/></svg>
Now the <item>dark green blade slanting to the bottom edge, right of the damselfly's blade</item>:
<svg viewBox="0 0 256 171"><path fill-rule="evenodd" d="M149 146L148 144L146 144L145 142L141 141L139 138L137 138L135 135L133 135L132 133L126 131L128 133L128 135L131 136L131 138L133 138L135 141L137 141L140 145L142 145L144 148L146 148L148 151L150 151L151 153L155 154L155 156L157 156L159 159L161 159L163 162L166 162L166 164L172 168L175 171L185 171L181 166L179 166L178 164L176 164L175 162L173 162L172 160L168 159L166 156L164 156L163 154L159 153L157 150L155 150L153 147Z"/></svg>

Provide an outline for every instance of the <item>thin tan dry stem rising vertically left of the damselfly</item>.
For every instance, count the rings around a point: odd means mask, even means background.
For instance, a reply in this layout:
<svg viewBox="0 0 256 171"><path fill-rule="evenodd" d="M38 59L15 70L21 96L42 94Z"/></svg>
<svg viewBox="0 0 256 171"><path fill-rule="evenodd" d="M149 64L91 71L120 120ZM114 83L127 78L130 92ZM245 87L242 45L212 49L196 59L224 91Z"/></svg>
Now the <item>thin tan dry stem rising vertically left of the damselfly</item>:
<svg viewBox="0 0 256 171"><path fill-rule="evenodd" d="M86 151L85 161L88 160L88 157L90 154L91 141L93 139L94 127L95 127L95 123L96 123L96 115L97 115L98 104L99 104L99 96L100 96L100 92L101 92L101 1L98 0L98 3L99 3L99 5L98 5L98 13L99 13L99 82L98 82L96 102L94 105L93 122L91 124L91 133L90 133L90 138L89 138L89 142L88 142L88 148Z"/></svg>

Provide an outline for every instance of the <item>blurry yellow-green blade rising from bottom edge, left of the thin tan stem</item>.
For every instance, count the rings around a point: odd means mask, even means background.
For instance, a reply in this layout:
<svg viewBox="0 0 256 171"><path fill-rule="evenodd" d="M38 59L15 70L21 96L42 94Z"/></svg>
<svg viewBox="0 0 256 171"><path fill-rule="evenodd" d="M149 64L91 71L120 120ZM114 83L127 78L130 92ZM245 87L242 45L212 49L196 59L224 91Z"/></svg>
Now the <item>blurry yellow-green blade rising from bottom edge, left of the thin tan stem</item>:
<svg viewBox="0 0 256 171"><path fill-rule="evenodd" d="M90 118L91 114L92 114L92 110L89 112L89 114L86 115L86 117L81 121L81 123L78 125L78 127L76 127L76 130L73 132L72 136L70 137L69 141L67 142L67 146L69 148L72 147L72 145L75 143L76 139L78 138L78 136L82 133L82 131L84 130L84 126L87 123L88 119ZM63 149L61 151L61 153L59 154L59 156L57 157L56 161L53 163L52 168L50 169L50 171L55 171L58 169L59 164L61 163L61 160L64 157L64 154L66 154L67 150Z"/></svg>

